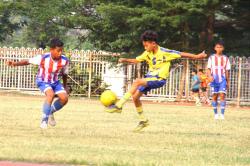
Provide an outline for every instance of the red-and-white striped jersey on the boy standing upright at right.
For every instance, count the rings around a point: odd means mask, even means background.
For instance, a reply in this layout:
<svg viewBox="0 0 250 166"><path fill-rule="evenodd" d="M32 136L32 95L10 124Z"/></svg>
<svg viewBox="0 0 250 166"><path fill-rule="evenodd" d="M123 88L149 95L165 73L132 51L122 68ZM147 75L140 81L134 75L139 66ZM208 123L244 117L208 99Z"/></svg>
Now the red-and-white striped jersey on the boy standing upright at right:
<svg viewBox="0 0 250 166"><path fill-rule="evenodd" d="M211 69L215 82L220 83L226 79L226 70L230 70L231 65L226 55L213 54L208 58L207 68Z"/></svg>

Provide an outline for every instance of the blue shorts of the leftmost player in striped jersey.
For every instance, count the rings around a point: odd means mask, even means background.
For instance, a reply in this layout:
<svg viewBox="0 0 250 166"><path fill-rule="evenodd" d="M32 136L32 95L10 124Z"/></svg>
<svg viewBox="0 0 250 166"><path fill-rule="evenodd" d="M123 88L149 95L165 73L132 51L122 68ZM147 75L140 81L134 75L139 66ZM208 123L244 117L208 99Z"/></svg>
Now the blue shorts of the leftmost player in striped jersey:
<svg viewBox="0 0 250 166"><path fill-rule="evenodd" d="M37 87L40 89L41 92L45 93L48 89L52 89L55 94L59 93L66 93L63 85L60 81L54 83L47 83L47 82L37 82Z"/></svg>

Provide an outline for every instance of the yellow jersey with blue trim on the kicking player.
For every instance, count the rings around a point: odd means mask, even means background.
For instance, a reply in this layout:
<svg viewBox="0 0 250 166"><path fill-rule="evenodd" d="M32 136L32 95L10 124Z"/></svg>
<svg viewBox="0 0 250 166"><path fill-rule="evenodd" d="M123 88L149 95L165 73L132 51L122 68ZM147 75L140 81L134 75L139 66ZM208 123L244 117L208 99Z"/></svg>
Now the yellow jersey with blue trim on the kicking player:
<svg viewBox="0 0 250 166"><path fill-rule="evenodd" d="M140 56L136 57L136 60L140 62L146 61L149 65L148 75L166 79L169 77L170 62L178 58L181 58L179 51L169 50L159 46L155 54L144 51Z"/></svg>

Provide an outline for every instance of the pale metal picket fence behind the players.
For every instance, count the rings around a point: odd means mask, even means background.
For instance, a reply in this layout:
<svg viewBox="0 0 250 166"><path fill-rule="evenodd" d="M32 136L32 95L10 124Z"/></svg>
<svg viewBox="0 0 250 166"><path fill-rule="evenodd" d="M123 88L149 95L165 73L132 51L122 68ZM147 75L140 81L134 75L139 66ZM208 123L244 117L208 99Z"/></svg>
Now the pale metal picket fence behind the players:
<svg viewBox="0 0 250 166"><path fill-rule="evenodd" d="M37 67L29 65L11 68L5 65L5 61L28 59L44 52L42 49L0 48L0 89L38 91L35 85ZM73 89L79 89L80 85L81 89L84 89L73 91L74 94L88 97L98 95L100 93L98 88L104 80L105 73L109 70L110 61L117 59L117 54L103 51L69 50L66 55L71 60L69 76L72 79L69 80L69 86ZM230 62L232 67L230 71L231 85L227 100L237 105L249 104L250 58L230 57ZM206 64L206 59L174 61L168 83L162 88L152 90L144 99L176 100L176 98L181 98L188 100L191 90L191 71L193 68L205 69ZM124 74L123 92L125 92L130 88L135 78L143 77L147 71L147 65L123 65L122 69Z"/></svg>

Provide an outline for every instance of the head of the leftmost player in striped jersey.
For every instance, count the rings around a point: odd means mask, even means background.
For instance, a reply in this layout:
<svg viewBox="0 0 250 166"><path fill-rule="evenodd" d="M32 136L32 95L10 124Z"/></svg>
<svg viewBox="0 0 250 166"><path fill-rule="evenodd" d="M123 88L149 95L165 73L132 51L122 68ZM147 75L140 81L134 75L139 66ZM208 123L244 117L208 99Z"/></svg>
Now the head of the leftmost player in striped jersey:
<svg viewBox="0 0 250 166"><path fill-rule="evenodd" d="M50 52L53 59L60 59L63 52L63 42L58 38L53 38L50 41Z"/></svg>

